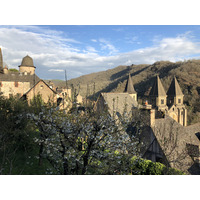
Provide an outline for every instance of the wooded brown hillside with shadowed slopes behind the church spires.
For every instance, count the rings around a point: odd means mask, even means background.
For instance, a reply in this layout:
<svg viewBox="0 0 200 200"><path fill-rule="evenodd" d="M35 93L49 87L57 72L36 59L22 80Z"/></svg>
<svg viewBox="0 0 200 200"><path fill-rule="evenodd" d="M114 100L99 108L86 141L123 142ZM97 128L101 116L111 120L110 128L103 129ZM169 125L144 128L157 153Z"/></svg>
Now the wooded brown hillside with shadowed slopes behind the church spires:
<svg viewBox="0 0 200 200"><path fill-rule="evenodd" d="M96 100L100 92L123 92L131 73L139 101L148 96L153 85L154 77L159 75L167 92L173 76L176 76L184 94L184 103L188 109L188 123L198 122L200 118L200 60L184 62L158 61L152 65L118 66L114 69L92 73L71 79L68 85L78 88L80 94ZM54 81L55 84L65 86L63 81Z"/></svg>

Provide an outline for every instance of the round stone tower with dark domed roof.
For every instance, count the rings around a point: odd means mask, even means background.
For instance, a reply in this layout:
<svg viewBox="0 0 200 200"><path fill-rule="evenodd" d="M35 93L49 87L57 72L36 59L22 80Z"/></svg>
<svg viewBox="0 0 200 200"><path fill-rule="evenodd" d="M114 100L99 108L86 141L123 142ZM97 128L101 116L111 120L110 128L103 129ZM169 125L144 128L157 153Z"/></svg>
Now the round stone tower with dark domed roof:
<svg viewBox="0 0 200 200"><path fill-rule="evenodd" d="M27 74L30 73L31 75L35 74L35 66L33 65L33 59L30 56L25 56L22 59L22 63L19 66L19 72Z"/></svg>

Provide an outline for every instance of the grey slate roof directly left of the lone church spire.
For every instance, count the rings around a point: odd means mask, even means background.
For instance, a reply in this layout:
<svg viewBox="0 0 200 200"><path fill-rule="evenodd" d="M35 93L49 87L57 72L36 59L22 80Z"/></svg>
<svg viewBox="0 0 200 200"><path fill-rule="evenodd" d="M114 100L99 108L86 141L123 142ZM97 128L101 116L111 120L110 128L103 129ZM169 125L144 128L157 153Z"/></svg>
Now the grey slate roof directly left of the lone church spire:
<svg viewBox="0 0 200 200"><path fill-rule="evenodd" d="M125 109L127 113L130 113L132 108L138 105L135 99L127 93L101 93L101 96L104 98L111 115L114 111L123 115Z"/></svg>

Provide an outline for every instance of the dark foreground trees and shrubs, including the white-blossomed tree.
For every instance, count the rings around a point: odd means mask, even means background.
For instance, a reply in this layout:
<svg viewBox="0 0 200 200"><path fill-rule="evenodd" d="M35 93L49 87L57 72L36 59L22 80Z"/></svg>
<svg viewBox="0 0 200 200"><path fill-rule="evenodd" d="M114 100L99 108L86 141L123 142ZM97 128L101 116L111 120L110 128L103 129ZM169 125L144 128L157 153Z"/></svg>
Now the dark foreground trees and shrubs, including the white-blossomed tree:
<svg viewBox="0 0 200 200"><path fill-rule="evenodd" d="M182 174L138 158L137 137L125 131L140 134L133 121L118 126L106 113L65 114L39 100L0 98L0 174Z"/></svg>

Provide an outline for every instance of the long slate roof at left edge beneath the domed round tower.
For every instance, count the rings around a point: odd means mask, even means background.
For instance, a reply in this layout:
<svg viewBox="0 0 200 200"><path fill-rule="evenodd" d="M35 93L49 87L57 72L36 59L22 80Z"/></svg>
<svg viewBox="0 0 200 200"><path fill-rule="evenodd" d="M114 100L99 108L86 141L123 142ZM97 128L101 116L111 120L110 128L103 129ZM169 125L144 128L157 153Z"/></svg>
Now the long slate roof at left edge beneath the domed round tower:
<svg viewBox="0 0 200 200"><path fill-rule="evenodd" d="M0 74L0 81L18 81L18 82L30 82L30 86L32 87L35 83L37 83L40 78L36 75L24 75L20 72L9 72L8 74Z"/></svg>

